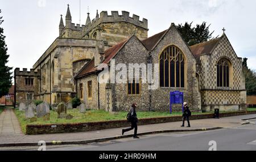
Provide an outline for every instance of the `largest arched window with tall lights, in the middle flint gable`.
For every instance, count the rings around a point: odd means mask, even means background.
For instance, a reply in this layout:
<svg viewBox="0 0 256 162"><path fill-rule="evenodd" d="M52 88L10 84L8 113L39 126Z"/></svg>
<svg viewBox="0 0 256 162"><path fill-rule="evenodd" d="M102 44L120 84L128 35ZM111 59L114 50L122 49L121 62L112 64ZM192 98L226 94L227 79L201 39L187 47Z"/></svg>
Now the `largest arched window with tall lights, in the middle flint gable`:
<svg viewBox="0 0 256 162"><path fill-rule="evenodd" d="M184 87L184 57L174 45L160 55L160 87Z"/></svg>

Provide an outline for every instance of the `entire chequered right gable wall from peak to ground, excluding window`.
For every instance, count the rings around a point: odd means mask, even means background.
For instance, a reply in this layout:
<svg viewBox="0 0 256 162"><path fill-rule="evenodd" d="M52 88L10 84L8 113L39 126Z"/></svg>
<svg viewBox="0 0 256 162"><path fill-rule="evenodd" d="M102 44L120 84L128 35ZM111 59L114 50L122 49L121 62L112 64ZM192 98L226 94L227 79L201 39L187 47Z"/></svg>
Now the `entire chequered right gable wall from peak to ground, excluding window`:
<svg viewBox="0 0 256 162"><path fill-rule="evenodd" d="M221 58L230 61L229 87L217 87L217 63ZM245 77L242 74L242 59L238 58L226 35L212 54L200 56L201 93L203 110L240 110L246 108Z"/></svg>

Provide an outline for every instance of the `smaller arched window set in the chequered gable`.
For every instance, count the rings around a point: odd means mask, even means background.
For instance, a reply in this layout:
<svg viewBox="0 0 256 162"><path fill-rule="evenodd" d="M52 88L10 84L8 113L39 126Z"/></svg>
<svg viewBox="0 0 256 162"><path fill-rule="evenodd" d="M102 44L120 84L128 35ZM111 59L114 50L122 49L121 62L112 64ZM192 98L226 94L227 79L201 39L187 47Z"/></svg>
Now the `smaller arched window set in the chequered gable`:
<svg viewBox="0 0 256 162"><path fill-rule="evenodd" d="M222 58L217 63L217 87L229 87L230 63Z"/></svg>

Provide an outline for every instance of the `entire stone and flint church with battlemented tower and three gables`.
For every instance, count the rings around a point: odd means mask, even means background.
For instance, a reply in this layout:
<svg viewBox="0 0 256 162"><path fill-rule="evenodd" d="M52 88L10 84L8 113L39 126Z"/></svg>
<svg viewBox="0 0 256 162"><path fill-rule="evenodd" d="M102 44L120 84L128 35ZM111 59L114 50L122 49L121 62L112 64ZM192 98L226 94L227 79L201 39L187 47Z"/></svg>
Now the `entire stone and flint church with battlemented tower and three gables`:
<svg viewBox="0 0 256 162"><path fill-rule="evenodd" d="M92 21L88 13L85 25L75 25L68 6L65 25L60 19L59 37L33 68L15 69L16 104L40 99L56 105L79 96L88 109L122 111L137 103L138 110L168 111L170 92L180 91L195 112L246 108L242 58L225 33L188 46L174 23L154 36L147 32L147 19L131 18L126 11L97 11ZM105 69L130 64L151 64L157 82L143 82L142 73L126 78L127 83L99 82ZM118 73L114 71L115 76ZM152 84L158 86L148 88ZM174 110L180 108L174 105Z"/></svg>

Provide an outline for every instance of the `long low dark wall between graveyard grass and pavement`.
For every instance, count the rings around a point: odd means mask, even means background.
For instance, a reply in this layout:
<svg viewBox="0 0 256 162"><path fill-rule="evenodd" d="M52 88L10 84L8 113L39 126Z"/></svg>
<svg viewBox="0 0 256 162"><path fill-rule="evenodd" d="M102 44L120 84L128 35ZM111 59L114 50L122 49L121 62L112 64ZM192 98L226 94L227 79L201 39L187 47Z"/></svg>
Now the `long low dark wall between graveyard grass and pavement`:
<svg viewBox="0 0 256 162"><path fill-rule="evenodd" d="M246 114L256 114L256 111L251 112L228 112L220 113L220 117L242 116ZM191 116L191 120L200 120L213 118L214 114L198 114ZM181 121L181 116L174 117L158 117L158 118L143 118L139 119L138 125L149 125L155 123L177 122ZM105 121L105 122L87 122L87 123L65 123L65 124L46 124L46 125L27 125L26 134L53 134L53 133L73 133L80 131L93 131L102 129L112 129L117 127L130 126L126 120Z"/></svg>

